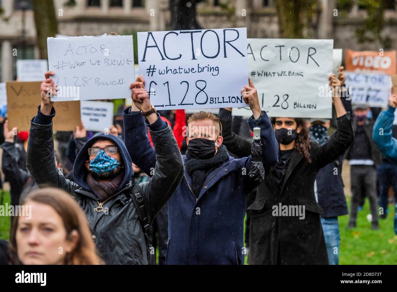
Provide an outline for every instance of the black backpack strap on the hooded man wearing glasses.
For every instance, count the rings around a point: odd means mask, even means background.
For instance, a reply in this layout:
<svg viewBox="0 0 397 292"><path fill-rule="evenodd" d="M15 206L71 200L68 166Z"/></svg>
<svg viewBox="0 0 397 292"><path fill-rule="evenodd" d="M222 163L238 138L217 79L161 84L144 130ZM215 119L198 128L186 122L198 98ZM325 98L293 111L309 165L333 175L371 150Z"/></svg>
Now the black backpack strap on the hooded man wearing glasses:
<svg viewBox="0 0 397 292"><path fill-rule="evenodd" d="M145 230L145 237L146 237L146 242L147 242L147 252L148 252L148 262L150 265L155 264L155 255L152 252L152 225L151 225L151 220L148 215L148 211L145 205L145 200L143 199L141 188L134 184L131 188L132 192L131 198L132 201L134 202L135 208L137 209L139 221L141 222L141 225L143 229Z"/></svg>

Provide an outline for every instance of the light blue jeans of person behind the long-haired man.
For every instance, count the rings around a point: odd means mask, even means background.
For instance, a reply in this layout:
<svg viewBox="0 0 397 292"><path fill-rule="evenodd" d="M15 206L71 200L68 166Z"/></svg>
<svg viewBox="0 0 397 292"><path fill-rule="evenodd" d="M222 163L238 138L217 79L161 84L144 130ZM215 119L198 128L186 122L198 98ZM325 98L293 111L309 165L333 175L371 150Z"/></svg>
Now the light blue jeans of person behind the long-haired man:
<svg viewBox="0 0 397 292"><path fill-rule="evenodd" d="M328 260L330 265L339 265L339 244L341 236L339 235L338 217L323 218L321 225L324 232L325 242L327 244Z"/></svg>

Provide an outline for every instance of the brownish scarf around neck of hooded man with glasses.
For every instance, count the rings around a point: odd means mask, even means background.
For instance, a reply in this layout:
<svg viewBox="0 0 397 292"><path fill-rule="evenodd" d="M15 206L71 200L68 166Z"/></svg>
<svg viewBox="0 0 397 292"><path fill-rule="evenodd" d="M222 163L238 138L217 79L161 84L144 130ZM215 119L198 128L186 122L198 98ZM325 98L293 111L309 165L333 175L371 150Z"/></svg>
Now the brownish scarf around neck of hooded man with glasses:
<svg viewBox="0 0 397 292"><path fill-rule="evenodd" d="M116 177L114 177L110 182L100 183L96 179L94 179L91 172L87 175L87 184L93 191L98 201L103 202L110 196L116 194L119 189L120 184L124 179L124 171L121 171Z"/></svg>

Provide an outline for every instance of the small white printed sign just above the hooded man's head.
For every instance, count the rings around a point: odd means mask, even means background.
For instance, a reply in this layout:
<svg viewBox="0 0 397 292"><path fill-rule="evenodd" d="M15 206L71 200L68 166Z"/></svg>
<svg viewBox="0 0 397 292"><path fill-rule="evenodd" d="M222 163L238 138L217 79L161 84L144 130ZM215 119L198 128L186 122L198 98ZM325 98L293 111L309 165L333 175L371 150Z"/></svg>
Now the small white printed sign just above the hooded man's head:
<svg viewBox="0 0 397 292"><path fill-rule="evenodd" d="M106 131L113 124L113 102L81 101L81 121L86 130Z"/></svg>

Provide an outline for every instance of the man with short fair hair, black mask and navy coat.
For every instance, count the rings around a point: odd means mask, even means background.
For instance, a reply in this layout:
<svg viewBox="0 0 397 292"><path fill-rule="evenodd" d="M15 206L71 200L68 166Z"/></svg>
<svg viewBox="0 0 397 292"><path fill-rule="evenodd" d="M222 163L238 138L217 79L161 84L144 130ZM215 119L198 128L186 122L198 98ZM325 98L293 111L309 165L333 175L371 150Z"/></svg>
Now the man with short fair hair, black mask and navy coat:
<svg viewBox="0 0 397 292"><path fill-rule="evenodd" d="M137 81L143 87L145 81L141 77ZM246 196L276 165L278 145L251 81L242 89L242 96L252 110L253 115L248 119L251 129L260 128L260 155L252 143L248 157L230 157L222 145L221 125L214 114L201 111L188 119L185 175L168 200L167 265L244 263ZM138 113L135 117L128 125L125 123L124 129L130 133L125 144L134 163L149 175L156 160L143 121ZM137 146L132 142L135 139L130 142L130 137L142 141L138 148L143 151L135 151Z"/></svg>

